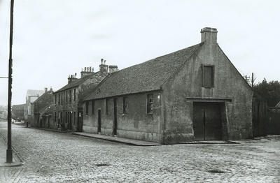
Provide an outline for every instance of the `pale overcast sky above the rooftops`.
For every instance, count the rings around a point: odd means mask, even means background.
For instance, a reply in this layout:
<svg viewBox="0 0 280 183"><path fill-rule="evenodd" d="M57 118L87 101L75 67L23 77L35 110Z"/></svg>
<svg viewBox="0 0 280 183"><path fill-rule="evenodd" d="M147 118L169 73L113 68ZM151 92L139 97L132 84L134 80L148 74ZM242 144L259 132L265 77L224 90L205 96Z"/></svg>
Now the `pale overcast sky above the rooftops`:
<svg viewBox="0 0 280 183"><path fill-rule="evenodd" d="M27 89L67 84L100 59L119 69L200 43L218 29L218 44L242 75L280 80L280 1L15 0L12 104ZM0 0L0 76L8 76L10 1ZM0 79L0 105L8 80Z"/></svg>

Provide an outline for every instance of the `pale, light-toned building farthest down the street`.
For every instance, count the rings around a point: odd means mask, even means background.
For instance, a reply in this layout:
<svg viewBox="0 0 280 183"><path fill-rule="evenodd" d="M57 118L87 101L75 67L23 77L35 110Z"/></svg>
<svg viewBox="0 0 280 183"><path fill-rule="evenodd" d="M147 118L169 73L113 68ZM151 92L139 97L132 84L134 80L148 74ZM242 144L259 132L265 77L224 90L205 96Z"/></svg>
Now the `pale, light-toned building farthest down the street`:
<svg viewBox="0 0 280 183"><path fill-rule="evenodd" d="M41 96L44 90L28 89L25 103L25 121L29 122L33 119L33 113L31 112L31 103L34 102L39 96Z"/></svg>

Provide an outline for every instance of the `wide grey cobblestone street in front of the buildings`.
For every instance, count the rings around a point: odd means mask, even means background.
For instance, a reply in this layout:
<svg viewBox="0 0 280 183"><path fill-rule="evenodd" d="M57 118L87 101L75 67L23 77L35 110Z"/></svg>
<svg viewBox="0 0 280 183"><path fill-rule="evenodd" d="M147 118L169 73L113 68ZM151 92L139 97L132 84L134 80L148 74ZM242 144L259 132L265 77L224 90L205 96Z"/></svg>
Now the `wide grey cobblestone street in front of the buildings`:
<svg viewBox="0 0 280 183"><path fill-rule="evenodd" d="M16 125L12 136L25 164L1 167L0 182L280 182L279 136L152 147Z"/></svg>

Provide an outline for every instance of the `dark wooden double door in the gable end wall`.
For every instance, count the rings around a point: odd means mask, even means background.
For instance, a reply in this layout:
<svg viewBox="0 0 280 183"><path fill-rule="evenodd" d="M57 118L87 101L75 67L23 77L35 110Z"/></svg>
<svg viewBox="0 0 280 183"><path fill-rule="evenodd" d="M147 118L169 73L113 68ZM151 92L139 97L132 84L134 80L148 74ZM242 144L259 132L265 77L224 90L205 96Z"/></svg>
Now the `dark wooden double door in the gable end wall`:
<svg viewBox="0 0 280 183"><path fill-rule="evenodd" d="M194 102L195 140L222 140L221 103Z"/></svg>

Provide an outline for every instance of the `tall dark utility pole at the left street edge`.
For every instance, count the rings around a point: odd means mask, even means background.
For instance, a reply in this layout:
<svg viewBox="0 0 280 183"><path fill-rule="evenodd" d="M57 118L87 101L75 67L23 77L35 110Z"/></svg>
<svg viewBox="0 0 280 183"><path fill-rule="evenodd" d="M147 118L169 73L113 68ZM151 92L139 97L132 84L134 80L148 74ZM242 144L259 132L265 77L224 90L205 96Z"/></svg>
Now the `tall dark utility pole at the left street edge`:
<svg viewBox="0 0 280 183"><path fill-rule="evenodd" d="M6 151L6 163L13 163L13 149L12 149L12 131L11 131L11 112L10 105L12 101L12 73L13 73L13 3L10 1L10 50L9 50L9 63L8 63L8 142Z"/></svg>

